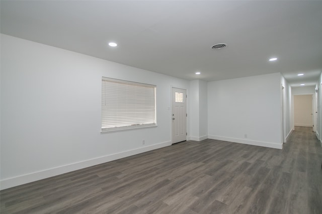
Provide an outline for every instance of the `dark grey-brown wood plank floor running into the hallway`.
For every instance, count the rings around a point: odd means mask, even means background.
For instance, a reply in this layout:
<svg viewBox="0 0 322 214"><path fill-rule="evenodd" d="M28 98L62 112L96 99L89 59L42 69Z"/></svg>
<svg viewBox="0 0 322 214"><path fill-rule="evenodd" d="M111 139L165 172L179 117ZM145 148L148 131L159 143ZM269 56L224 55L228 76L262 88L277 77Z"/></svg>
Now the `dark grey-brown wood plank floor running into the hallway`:
<svg viewBox="0 0 322 214"><path fill-rule="evenodd" d="M1 213L322 213L322 148L187 141L2 190Z"/></svg>

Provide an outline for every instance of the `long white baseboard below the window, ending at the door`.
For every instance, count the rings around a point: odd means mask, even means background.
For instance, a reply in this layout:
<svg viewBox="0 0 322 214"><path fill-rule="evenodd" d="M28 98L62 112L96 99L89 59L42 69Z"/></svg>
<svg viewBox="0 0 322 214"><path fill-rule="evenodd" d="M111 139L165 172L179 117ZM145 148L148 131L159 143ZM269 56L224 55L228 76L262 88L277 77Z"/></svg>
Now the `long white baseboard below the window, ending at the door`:
<svg viewBox="0 0 322 214"><path fill-rule="evenodd" d="M46 169L46 170L42 170L42 171L32 172L29 174L24 174L24 175L20 175L20 176L16 176L16 177L3 179L0 181L0 189L1 190L7 189L7 188L18 186L21 184L30 183L30 182L33 182L36 180L41 180L44 178L52 177L55 175L66 173L66 172L71 172L74 170L86 168L89 166L94 166L97 164L109 162L112 160L117 160L117 159L120 159L123 157L128 157L131 155L151 151L154 149L158 149L158 148L162 148L162 147L166 147L166 146L170 146L170 145L171 145L171 141L167 141L167 142L158 143L158 144L154 144L154 145L150 145L150 146L144 146L141 148L128 150L128 151L124 151L124 152L120 152L120 153L109 154L109 155L102 156L102 157L84 160L81 162L58 166L58 167L51 168L51 169Z"/></svg>

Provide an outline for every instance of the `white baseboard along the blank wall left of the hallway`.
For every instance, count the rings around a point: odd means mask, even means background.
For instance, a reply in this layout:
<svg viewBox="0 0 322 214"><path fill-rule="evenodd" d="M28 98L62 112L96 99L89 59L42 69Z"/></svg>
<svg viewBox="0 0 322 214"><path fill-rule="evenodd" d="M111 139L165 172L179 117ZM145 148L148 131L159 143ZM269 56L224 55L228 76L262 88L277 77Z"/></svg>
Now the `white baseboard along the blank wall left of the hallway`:
<svg viewBox="0 0 322 214"><path fill-rule="evenodd" d="M275 149L282 149L283 148L283 144L279 144L279 143L246 140L246 139L232 138L232 137L222 137L222 136L216 136L216 135L208 135L208 138L214 139L214 140L229 141L229 142L234 142L234 143L249 144L249 145L254 145L254 146L264 146L264 147L275 148Z"/></svg>

